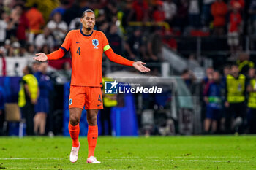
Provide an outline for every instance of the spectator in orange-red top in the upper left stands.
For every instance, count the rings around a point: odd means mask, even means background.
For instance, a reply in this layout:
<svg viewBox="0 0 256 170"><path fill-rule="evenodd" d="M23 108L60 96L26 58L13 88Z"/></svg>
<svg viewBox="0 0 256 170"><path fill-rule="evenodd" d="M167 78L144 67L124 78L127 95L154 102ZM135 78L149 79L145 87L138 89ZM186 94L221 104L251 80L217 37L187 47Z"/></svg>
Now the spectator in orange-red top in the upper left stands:
<svg viewBox="0 0 256 170"><path fill-rule="evenodd" d="M29 20L29 28L31 31L39 31L45 24L42 12L40 12L37 7L37 4L33 4L33 7L26 12L26 18Z"/></svg>

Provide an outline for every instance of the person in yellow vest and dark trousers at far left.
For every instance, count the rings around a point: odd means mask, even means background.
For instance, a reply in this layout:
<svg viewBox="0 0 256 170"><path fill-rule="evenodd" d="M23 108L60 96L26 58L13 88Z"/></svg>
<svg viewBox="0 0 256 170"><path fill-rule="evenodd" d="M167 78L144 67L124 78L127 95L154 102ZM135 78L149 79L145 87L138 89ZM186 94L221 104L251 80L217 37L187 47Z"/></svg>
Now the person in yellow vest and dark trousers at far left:
<svg viewBox="0 0 256 170"><path fill-rule="evenodd" d="M23 69L24 76L20 81L20 91L18 95L18 106L26 120L26 134L34 135L34 105L37 104L39 95L37 78L32 74L30 66Z"/></svg>

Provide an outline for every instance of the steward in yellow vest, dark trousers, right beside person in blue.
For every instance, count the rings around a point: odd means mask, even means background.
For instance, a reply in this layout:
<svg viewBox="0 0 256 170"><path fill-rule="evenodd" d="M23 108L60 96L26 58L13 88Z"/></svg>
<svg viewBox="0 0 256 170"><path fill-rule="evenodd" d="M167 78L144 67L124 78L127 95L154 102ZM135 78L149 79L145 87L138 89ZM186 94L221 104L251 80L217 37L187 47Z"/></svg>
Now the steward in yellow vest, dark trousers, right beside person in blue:
<svg viewBox="0 0 256 170"><path fill-rule="evenodd" d="M227 133L242 131L243 120L245 116L245 91L246 77L239 74L239 68L236 64L231 66L231 74L227 75L226 83L226 129Z"/></svg>

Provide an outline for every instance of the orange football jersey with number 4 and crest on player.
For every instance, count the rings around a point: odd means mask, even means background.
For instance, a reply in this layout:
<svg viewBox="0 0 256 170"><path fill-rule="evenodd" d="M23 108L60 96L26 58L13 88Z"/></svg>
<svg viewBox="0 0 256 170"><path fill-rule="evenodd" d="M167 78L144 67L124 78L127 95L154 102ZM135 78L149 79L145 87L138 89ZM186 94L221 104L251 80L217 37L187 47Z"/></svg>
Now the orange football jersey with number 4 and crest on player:
<svg viewBox="0 0 256 170"><path fill-rule="evenodd" d="M102 87L102 54L107 45L102 31L94 30L91 35L82 30L69 31L61 49L70 50L72 56L71 85Z"/></svg>

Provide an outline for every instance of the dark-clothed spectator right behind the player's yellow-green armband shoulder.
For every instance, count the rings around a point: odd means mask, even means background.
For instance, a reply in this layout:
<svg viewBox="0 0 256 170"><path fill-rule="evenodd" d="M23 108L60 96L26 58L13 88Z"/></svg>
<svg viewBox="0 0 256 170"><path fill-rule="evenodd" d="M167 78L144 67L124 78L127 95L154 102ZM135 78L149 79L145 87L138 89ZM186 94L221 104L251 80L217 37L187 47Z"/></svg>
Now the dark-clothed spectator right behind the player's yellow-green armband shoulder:
<svg viewBox="0 0 256 170"><path fill-rule="evenodd" d="M118 35L118 26L116 24L112 24L110 26L109 34L107 34L108 43L111 48L118 54L122 55L122 39L121 36Z"/></svg>

